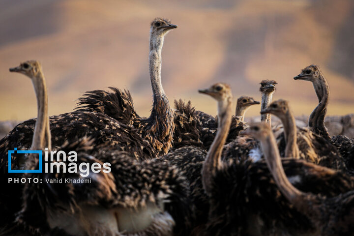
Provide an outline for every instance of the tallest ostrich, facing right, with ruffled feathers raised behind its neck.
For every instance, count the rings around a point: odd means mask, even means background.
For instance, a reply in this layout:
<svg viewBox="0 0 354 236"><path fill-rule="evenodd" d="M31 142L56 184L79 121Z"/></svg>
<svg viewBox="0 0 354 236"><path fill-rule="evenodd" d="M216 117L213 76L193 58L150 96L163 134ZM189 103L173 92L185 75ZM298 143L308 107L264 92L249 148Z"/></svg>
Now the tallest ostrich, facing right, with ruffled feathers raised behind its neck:
<svg viewBox="0 0 354 236"><path fill-rule="evenodd" d="M149 70L153 105L148 118L135 112L130 92L111 88L113 92L94 90L79 98L78 111L106 114L124 124L133 125L158 154L166 154L172 147L174 112L161 84L161 51L165 35L177 26L169 20L155 18L150 27Z"/></svg>

